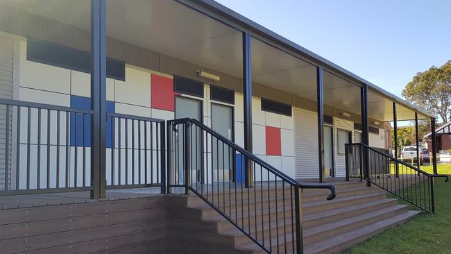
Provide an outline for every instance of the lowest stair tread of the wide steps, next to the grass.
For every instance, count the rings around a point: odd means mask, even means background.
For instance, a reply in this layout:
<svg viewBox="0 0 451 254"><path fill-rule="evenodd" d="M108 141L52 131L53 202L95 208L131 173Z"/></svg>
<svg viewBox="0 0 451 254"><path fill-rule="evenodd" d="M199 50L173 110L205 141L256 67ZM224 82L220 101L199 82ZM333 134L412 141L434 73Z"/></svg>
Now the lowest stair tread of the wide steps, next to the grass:
<svg viewBox="0 0 451 254"><path fill-rule="evenodd" d="M366 237L375 235L377 232L385 230L386 228L394 226L403 221L407 221L408 219L411 219L412 217L414 217L419 213L420 211L409 210L403 212L402 214L398 214L395 217L377 221L376 223L372 223L371 225L364 226L362 228L358 228L356 230L352 230L344 234L339 234L334 237L328 237L327 239L324 239L321 242L307 244L306 246L304 246L304 253L318 253L320 251L326 251L328 248L332 248L339 244L346 244L346 242L352 239L358 239L359 237L364 237L364 239L366 239Z"/></svg>

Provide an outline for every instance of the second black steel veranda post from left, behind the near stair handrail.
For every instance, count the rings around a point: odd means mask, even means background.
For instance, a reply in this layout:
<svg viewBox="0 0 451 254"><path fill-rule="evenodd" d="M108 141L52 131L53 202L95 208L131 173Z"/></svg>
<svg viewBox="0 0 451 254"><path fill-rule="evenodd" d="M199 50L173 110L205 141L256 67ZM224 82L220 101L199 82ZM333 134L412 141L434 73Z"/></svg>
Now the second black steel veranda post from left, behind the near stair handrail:
<svg viewBox="0 0 451 254"><path fill-rule="evenodd" d="M252 152L252 76L250 74L250 34L243 33L244 149ZM246 187L253 187L250 160L244 163Z"/></svg>

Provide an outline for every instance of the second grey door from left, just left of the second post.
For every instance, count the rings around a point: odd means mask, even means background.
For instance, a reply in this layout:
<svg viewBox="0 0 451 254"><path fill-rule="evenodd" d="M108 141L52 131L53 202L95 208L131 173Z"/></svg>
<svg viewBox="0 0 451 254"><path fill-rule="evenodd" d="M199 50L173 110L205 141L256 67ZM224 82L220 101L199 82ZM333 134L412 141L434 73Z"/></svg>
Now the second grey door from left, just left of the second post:
<svg viewBox="0 0 451 254"><path fill-rule="evenodd" d="M212 129L233 140L233 108L212 103ZM233 151L218 139L212 142L213 181L232 180Z"/></svg>

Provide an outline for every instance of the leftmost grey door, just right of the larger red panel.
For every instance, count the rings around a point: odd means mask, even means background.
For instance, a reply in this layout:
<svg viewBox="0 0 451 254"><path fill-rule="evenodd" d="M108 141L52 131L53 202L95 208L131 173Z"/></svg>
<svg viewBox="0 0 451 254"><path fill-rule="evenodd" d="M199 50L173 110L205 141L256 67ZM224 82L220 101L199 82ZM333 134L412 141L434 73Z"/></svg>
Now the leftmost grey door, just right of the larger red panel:
<svg viewBox="0 0 451 254"><path fill-rule="evenodd" d="M176 97L176 119L180 118L191 118L201 121L202 119L202 101L198 101L196 99L188 99L180 96ZM202 122L202 121L201 121ZM192 169L191 178L192 183L196 183L198 181L198 176L200 176L201 171L201 162L202 162L202 139L200 129L196 129L194 127L189 127L189 145L191 148L191 157L190 157L190 167ZM176 149L178 156L178 163L176 166L178 167L178 183L185 183L185 167L184 167L184 152L185 152L185 136L184 129L182 126L178 129L178 133L176 136ZM177 178L176 178L177 179Z"/></svg>

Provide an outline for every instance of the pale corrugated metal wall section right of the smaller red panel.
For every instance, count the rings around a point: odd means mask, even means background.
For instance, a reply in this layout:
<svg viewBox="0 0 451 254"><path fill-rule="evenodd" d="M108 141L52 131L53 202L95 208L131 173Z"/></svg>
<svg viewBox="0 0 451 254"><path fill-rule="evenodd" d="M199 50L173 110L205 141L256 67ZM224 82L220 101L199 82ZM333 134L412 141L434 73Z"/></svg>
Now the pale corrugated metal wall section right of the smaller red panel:
<svg viewBox="0 0 451 254"><path fill-rule="evenodd" d="M293 108L296 178L318 178L318 117Z"/></svg>

